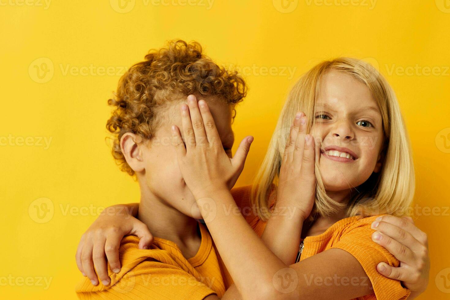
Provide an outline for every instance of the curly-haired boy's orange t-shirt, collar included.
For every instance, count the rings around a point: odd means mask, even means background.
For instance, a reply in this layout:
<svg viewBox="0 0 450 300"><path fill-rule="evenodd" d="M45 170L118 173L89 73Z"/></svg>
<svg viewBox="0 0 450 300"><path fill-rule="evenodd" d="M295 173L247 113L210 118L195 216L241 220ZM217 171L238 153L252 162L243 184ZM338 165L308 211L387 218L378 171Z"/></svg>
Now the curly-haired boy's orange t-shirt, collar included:
<svg viewBox="0 0 450 300"><path fill-rule="evenodd" d="M139 250L139 238L127 236L119 248L121 271L111 283L93 286L84 278L76 287L80 299L203 299L225 293L220 264L211 235L199 224L202 242L197 254L186 260L174 242L155 237L151 249ZM220 260L220 264L219 264Z"/></svg>

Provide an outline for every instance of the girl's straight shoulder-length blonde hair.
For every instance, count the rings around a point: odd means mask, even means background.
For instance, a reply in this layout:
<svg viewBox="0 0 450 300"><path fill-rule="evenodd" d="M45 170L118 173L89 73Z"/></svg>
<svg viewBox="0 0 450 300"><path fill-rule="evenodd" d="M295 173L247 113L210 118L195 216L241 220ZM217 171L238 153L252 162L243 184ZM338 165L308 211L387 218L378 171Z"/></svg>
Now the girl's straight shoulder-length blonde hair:
<svg viewBox="0 0 450 300"><path fill-rule="evenodd" d="M347 204L347 216L391 214L405 215L414 196L414 166L405 123L396 95L386 79L372 65L355 58L336 58L319 63L306 72L288 94L272 136L266 157L252 186L252 203L260 219L270 216L269 195L276 190L283 151L296 112L307 116L307 131L311 131L315 116L315 103L321 79L329 70L344 72L363 82L380 109L383 121L382 170L373 173L364 184L357 187ZM315 166L316 193L310 219L317 215L328 216L344 204L333 201Z"/></svg>

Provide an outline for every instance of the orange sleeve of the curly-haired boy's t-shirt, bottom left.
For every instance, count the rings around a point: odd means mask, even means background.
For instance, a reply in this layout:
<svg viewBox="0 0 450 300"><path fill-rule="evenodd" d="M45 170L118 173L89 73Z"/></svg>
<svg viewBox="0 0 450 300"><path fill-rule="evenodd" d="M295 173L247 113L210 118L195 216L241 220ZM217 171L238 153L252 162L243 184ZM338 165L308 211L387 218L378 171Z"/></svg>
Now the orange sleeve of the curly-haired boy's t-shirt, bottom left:
<svg viewBox="0 0 450 300"><path fill-rule="evenodd" d="M125 268L122 267L122 270ZM210 278L194 278L184 270L156 260L144 260L126 273L109 273L111 283L93 286L85 279L76 288L78 298L85 299L186 299L202 300L215 294ZM214 279L214 278L212 278Z"/></svg>

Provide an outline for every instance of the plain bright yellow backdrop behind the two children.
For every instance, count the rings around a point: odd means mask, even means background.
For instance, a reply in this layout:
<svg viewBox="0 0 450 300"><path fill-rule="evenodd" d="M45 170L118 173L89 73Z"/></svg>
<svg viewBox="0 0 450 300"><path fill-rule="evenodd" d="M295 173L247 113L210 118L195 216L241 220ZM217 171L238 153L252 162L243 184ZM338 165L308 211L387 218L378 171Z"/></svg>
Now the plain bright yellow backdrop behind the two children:
<svg viewBox="0 0 450 300"><path fill-rule="evenodd" d="M246 71L250 92L234 130L237 141L252 134L255 142L238 185L251 182L303 72L336 56L374 63L412 141L415 221L432 259L422 299L450 296L441 278L450 273L450 1L280 1L0 0L1 298L76 298L76 245L96 210L139 199L105 142L106 101L123 67L175 38ZM44 219L36 207L49 210Z"/></svg>

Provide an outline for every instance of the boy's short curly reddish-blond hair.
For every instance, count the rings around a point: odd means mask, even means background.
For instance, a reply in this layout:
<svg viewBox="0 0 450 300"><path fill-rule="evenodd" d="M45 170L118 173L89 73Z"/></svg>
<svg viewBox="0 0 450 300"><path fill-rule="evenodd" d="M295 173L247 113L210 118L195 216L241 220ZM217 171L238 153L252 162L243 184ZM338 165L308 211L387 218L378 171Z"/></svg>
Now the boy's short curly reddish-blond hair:
<svg viewBox="0 0 450 300"><path fill-rule="evenodd" d="M202 54L200 44L183 40L150 50L144 61L121 77L117 93L108 100L114 109L106 128L114 135L112 156L122 171L135 174L121 152L122 135L131 132L151 139L161 123L158 108L189 94L215 97L234 105L246 96L247 86L237 72L219 67Z"/></svg>

